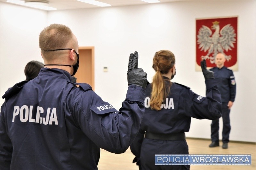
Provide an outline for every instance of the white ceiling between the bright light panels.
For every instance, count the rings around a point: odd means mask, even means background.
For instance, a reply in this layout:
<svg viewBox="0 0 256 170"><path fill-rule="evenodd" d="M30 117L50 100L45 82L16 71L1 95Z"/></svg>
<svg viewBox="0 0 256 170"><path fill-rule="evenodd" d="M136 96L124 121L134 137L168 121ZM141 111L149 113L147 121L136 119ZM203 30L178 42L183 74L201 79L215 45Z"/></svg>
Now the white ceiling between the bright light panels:
<svg viewBox="0 0 256 170"><path fill-rule="evenodd" d="M111 4L111 6L127 6L127 5L140 5L149 4L140 0L97 0L103 3ZM183 0L160 0L160 3L183 1ZM0 2L8 3L6 0L0 0ZM76 0L49 0L47 6L57 8L57 10L73 10L73 9L85 9L85 8L106 8Z"/></svg>

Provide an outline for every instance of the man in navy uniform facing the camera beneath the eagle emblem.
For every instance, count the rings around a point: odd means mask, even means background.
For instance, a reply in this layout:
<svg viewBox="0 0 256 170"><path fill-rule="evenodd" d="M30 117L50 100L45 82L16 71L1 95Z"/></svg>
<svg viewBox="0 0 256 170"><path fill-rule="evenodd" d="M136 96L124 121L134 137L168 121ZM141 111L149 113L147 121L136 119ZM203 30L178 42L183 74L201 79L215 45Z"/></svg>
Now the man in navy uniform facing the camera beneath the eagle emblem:
<svg viewBox="0 0 256 170"><path fill-rule="evenodd" d="M231 69L228 69L224 66L226 59L224 54L219 53L215 57L216 67L210 69L213 71L215 78L220 78L220 84L218 84L218 90L221 94L222 100L222 120L223 120L223 129L222 129L222 148L228 148L229 142L229 133L230 133L230 119L229 113L230 108L233 106L233 102L236 97L236 81ZM211 124L211 139L212 143L209 147L219 146L219 119L212 120Z"/></svg>

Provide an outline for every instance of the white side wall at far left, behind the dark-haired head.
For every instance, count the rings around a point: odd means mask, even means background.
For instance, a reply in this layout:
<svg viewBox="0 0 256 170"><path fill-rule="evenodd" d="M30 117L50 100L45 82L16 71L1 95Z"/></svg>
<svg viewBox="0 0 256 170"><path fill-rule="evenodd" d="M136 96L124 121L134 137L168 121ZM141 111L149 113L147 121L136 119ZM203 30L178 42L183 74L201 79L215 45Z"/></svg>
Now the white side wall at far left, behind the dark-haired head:
<svg viewBox="0 0 256 170"><path fill-rule="evenodd" d="M44 62L38 45L46 26L47 12L0 3L0 104L2 95L26 79L24 68L31 60Z"/></svg>

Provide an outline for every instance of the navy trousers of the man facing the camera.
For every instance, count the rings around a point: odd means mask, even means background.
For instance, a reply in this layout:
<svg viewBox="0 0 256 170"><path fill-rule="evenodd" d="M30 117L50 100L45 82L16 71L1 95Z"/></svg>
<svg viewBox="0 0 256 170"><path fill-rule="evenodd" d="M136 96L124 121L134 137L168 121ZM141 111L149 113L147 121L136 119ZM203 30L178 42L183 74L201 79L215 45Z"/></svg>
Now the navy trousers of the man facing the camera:
<svg viewBox="0 0 256 170"><path fill-rule="evenodd" d="M230 126L230 119L229 113L230 110L228 109L228 103L222 103L222 120L223 120L223 129L222 129L222 142L228 143L229 142L229 133L231 130ZM219 142L219 119L212 120L211 124L211 138L212 142Z"/></svg>

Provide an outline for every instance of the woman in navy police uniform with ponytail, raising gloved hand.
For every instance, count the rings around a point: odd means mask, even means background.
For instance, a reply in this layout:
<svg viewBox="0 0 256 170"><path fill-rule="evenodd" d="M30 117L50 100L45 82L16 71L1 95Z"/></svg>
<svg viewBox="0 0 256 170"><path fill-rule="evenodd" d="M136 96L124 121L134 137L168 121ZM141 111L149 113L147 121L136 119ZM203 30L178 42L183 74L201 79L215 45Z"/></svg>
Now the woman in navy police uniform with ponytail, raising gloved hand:
<svg viewBox="0 0 256 170"><path fill-rule="evenodd" d="M219 80L206 70L205 60L201 66L206 97L192 92L185 85L172 83L176 74L173 53L168 50L156 52L153 58L156 73L146 87L145 115L130 146L135 155L133 162L139 165L139 169L189 169L189 165L155 165L155 155L188 154L184 132L189 131L191 117L211 120L221 117L221 97L216 86Z"/></svg>

